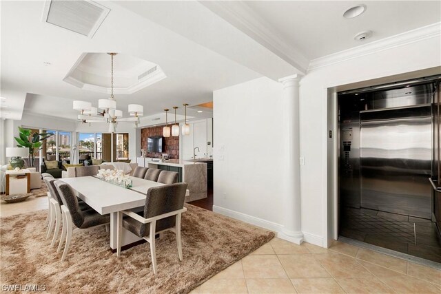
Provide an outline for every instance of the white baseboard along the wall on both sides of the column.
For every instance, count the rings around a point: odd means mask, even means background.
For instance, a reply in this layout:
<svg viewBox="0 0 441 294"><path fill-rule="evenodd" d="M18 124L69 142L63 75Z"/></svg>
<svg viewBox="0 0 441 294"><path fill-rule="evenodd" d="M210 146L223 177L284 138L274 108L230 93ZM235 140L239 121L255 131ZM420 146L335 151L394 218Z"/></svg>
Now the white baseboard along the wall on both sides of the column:
<svg viewBox="0 0 441 294"><path fill-rule="evenodd" d="M249 224L254 224L257 227L261 227L263 229L267 229L270 231L274 231L278 237L281 239L287 240L289 242L296 243L296 240L290 240L289 238L284 238L285 233L283 233L283 225L276 224L275 222L269 222L267 220L263 220L261 218L256 218L255 216L249 216L245 213L241 213L238 211L234 211L231 209L226 209L224 207L218 207L216 205L213 205L213 211L216 213L220 213L223 216L228 216L229 218L234 218L236 220L241 220L243 222L247 222ZM317 245L322 247L323 246L323 238L314 235L311 233L303 233L303 241Z"/></svg>

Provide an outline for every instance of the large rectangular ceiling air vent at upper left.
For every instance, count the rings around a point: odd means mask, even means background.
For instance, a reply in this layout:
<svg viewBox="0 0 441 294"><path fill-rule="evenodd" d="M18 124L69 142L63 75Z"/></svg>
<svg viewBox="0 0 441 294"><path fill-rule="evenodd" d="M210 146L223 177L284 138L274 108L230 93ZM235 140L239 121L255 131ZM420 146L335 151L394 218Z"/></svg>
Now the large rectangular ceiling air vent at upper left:
<svg viewBox="0 0 441 294"><path fill-rule="evenodd" d="M43 21L92 38L110 9L84 0L46 1Z"/></svg>

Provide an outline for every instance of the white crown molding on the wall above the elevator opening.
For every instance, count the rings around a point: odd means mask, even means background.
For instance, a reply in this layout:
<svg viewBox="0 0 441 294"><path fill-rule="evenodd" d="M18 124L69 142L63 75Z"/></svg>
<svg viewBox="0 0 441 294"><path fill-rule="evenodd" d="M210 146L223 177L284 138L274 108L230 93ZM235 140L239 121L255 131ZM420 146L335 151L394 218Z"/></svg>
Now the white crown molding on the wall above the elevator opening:
<svg viewBox="0 0 441 294"><path fill-rule="evenodd" d="M438 36L441 36L441 23L433 23L431 25L426 25L422 28L417 28L415 30L403 32L401 34L389 36L387 38L378 41L373 41L366 45L360 45L355 48L343 50L340 52L329 54L327 56L322 56L319 57L318 59L313 59L309 63L309 67L307 71L309 72L311 70L316 70L320 67L341 63L343 61L349 61L351 59L356 59L360 56L376 54L384 50L397 48L402 45L416 43L419 41L435 38Z"/></svg>

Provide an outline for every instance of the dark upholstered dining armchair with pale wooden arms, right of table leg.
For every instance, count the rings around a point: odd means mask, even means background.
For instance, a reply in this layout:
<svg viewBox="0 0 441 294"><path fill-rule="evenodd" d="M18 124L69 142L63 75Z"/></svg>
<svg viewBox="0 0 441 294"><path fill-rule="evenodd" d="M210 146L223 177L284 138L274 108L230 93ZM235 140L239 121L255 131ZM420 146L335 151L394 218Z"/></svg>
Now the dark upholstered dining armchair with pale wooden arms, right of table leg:
<svg viewBox="0 0 441 294"><path fill-rule="evenodd" d="M127 229L150 243L153 273L156 275L155 235L164 231L176 234L178 257L182 261L181 214L187 211L184 207L187 183L152 187L147 190L144 210L140 212L119 211L117 213L118 231L116 256L121 256L122 230Z"/></svg>

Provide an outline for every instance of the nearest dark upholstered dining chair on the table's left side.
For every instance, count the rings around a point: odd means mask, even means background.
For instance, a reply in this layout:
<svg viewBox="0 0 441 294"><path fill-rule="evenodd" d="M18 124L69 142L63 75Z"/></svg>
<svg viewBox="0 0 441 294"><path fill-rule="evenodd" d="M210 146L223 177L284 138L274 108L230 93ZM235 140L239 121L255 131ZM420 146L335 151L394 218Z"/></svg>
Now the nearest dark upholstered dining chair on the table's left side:
<svg viewBox="0 0 441 294"><path fill-rule="evenodd" d="M61 211L63 211L63 229L61 231L61 239L57 252L60 251L61 246L65 240L65 246L61 261L63 261L68 255L70 241L72 240L73 226L77 229L90 229L110 223L110 214L101 215L94 211L94 209L88 209L82 211L79 208L78 200L76 199L74 189L69 184L62 180L54 181L54 185L61 196L63 205Z"/></svg>

